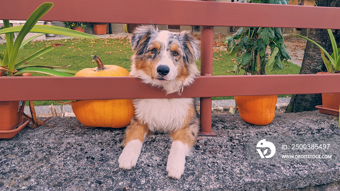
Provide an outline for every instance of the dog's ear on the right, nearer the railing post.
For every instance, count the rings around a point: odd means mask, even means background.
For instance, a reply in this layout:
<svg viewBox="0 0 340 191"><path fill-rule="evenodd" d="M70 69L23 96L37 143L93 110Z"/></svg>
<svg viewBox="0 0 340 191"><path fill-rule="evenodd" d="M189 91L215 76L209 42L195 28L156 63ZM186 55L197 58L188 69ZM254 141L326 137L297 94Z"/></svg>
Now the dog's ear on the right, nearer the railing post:
<svg viewBox="0 0 340 191"><path fill-rule="evenodd" d="M179 34L185 47L186 61L191 63L200 58L200 43L188 31L182 31Z"/></svg>

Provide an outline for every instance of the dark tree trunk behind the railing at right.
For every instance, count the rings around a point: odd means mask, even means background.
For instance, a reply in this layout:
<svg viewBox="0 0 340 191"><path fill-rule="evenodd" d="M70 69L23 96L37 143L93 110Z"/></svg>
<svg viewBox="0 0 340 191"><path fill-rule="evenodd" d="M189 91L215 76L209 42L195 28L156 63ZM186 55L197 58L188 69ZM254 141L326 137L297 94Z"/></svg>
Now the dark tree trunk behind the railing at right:
<svg viewBox="0 0 340 191"><path fill-rule="evenodd" d="M339 0L316 0L316 4L323 7L340 7ZM333 34L339 47L340 30L334 30ZM326 29L310 29L308 38L317 42L327 52L332 52L332 44ZM319 66L322 67L320 68ZM320 49L307 41L300 74L316 74L321 71L326 71L326 67L323 64ZM321 94L293 95L286 112L312 111L316 110L315 106L317 105L322 105Z"/></svg>

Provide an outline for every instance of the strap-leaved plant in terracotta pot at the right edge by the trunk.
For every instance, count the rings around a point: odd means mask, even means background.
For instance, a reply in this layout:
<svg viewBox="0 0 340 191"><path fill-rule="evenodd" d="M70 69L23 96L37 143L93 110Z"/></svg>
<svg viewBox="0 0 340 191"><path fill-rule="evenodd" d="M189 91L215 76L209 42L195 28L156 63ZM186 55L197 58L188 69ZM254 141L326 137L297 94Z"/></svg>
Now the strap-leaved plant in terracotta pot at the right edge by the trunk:
<svg viewBox="0 0 340 191"><path fill-rule="evenodd" d="M316 45L318 48L320 48L321 57L323 58L323 63L326 66L327 72L318 72L317 74L334 74L334 73L340 72L340 48L338 48L337 46L337 42L335 41L332 30L327 29L327 32L332 43L332 49L333 49L332 54L328 53L322 46L320 46L315 41L305 36L295 34L296 36L304 38L310 41L311 43L313 43L314 45ZM321 113L339 116L338 109L340 107L340 93L322 94L322 100L323 100L323 105L315 106L316 108L318 108L318 110Z"/></svg>

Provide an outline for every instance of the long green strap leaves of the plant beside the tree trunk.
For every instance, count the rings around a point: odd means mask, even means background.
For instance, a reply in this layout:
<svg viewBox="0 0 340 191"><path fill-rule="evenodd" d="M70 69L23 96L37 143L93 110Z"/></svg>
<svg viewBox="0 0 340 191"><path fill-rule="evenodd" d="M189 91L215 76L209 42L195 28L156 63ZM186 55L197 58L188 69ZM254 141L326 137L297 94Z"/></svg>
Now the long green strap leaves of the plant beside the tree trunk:
<svg viewBox="0 0 340 191"><path fill-rule="evenodd" d="M312 42L314 45L320 48L321 57L323 58L323 63L326 66L327 72L331 72L331 73L340 72L340 48L338 48L337 46L337 42L335 41L332 30L327 29L327 31L328 31L329 38L332 43L332 48L333 48L332 54L328 53L322 46L320 46L315 41L305 36L301 36L299 34L295 34L295 35Z"/></svg>

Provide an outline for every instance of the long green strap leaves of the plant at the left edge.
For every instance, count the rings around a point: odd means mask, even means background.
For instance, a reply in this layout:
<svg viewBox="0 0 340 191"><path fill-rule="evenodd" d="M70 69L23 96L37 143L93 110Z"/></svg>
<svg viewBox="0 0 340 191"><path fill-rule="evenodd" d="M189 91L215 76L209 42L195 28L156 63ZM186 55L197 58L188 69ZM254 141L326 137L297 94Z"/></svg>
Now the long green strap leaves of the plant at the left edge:
<svg viewBox="0 0 340 191"><path fill-rule="evenodd" d="M53 67L53 66L37 67L36 65L25 65L23 67L20 67L22 64L26 64L29 61L33 60L34 58L39 57L40 55L56 47L59 47L62 44L49 45L35 52L33 55L27 57L26 59L20 62L16 62L19 49L21 49L25 44L27 44L32 39L42 35L42 34L37 34L24 40L24 37L28 34L28 32L37 32L37 33L43 33L43 34L52 33L52 34L60 34L60 35L74 36L74 37L80 37L80 38L98 39L98 37L95 37L93 35L86 34L84 32L78 32L78 31L66 29L63 27L48 26L48 25L35 25L35 23L42 16L44 16L52 8L52 6L53 6L53 3L50 3L50 2L41 4L32 13L32 15L27 19L26 23L23 26L10 27L9 20L3 20L4 29L0 30L0 34L3 34L3 33L6 34L6 49L5 49L4 54L0 53L0 60L2 60L0 70L4 71L2 72L2 74L8 75L8 76L12 76L12 75L17 76L24 72L31 72L31 73L42 73L42 74L47 74L51 76L73 76L74 71L65 70L60 67ZM19 32L15 41L14 41L14 32Z"/></svg>

